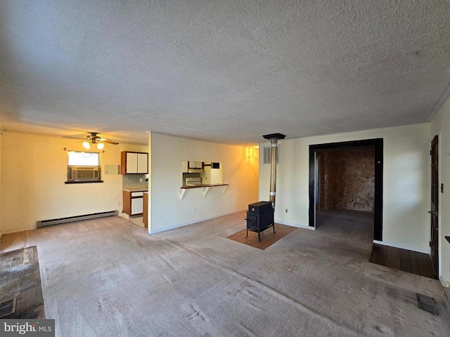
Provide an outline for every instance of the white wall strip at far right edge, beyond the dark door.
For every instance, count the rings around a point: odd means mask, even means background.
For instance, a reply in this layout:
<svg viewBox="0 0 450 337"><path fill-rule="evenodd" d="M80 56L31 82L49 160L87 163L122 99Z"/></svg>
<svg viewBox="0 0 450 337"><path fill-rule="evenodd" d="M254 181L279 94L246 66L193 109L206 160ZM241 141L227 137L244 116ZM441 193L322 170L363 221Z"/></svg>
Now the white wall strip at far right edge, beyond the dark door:
<svg viewBox="0 0 450 337"><path fill-rule="evenodd" d="M442 284L450 282L450 98L431 121L430 139L439 136L439 184L444 184L444 193L439 193L439 279Z"/></svg>

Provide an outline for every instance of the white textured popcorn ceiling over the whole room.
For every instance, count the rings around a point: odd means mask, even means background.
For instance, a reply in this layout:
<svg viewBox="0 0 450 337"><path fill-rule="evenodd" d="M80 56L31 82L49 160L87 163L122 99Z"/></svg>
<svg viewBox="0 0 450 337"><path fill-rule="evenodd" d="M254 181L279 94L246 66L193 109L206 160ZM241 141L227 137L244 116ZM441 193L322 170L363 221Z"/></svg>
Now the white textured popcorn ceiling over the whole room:
<svg viewBox="0 0 450 337"><path fill-rule="evenodd" d="M450 2L0 1L6 131L217 143L429 121Z"/></svg>

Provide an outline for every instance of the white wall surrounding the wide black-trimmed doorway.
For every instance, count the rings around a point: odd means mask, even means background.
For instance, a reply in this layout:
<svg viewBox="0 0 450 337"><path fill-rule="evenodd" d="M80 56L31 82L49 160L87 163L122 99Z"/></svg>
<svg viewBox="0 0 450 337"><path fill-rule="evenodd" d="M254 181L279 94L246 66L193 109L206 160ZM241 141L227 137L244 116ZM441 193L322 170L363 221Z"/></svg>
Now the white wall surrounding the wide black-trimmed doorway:
<svg viewBox="0 0 450 337"><path fill-rule="evenodd" d="M309 223L309 145L383 138L383 242L429 253L430 124L280 140L275 220ZM260 158L262 147L259 145ZM269 199L270 165L259 164L259 199ZM288 209L288 213L284 210Z"/></svg>

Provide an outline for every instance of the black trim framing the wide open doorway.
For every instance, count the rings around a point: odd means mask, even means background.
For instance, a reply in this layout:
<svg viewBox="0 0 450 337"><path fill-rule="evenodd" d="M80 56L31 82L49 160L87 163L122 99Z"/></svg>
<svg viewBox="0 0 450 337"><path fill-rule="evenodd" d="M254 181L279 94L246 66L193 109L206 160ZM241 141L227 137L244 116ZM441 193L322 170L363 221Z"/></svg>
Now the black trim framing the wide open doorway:
<svg viewBox="0 0 450 337"><path fill-rule="evenodd" d="M373 239L383 241L383 138L309 145L309 226L314 227L314 154L320 150L360 146L373 146L375 149Z"/></svg>

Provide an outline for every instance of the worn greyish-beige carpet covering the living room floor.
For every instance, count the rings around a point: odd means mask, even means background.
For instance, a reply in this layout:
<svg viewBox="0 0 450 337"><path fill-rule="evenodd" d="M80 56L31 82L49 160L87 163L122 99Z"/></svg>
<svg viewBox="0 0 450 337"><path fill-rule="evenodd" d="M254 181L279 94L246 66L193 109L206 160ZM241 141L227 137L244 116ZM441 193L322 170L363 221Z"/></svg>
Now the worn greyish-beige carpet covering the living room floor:
<svg viewBox="0 0 450 337"><path fill-rule="evenodd" d="M265 250L226 239L243 218L154 235L103 218L4 234L0 252L37 246L56 336L450 336L437 280L369 263L371 239L345 234L366 217L345 225L343 214L334 230L295 230Z"/></svg>

